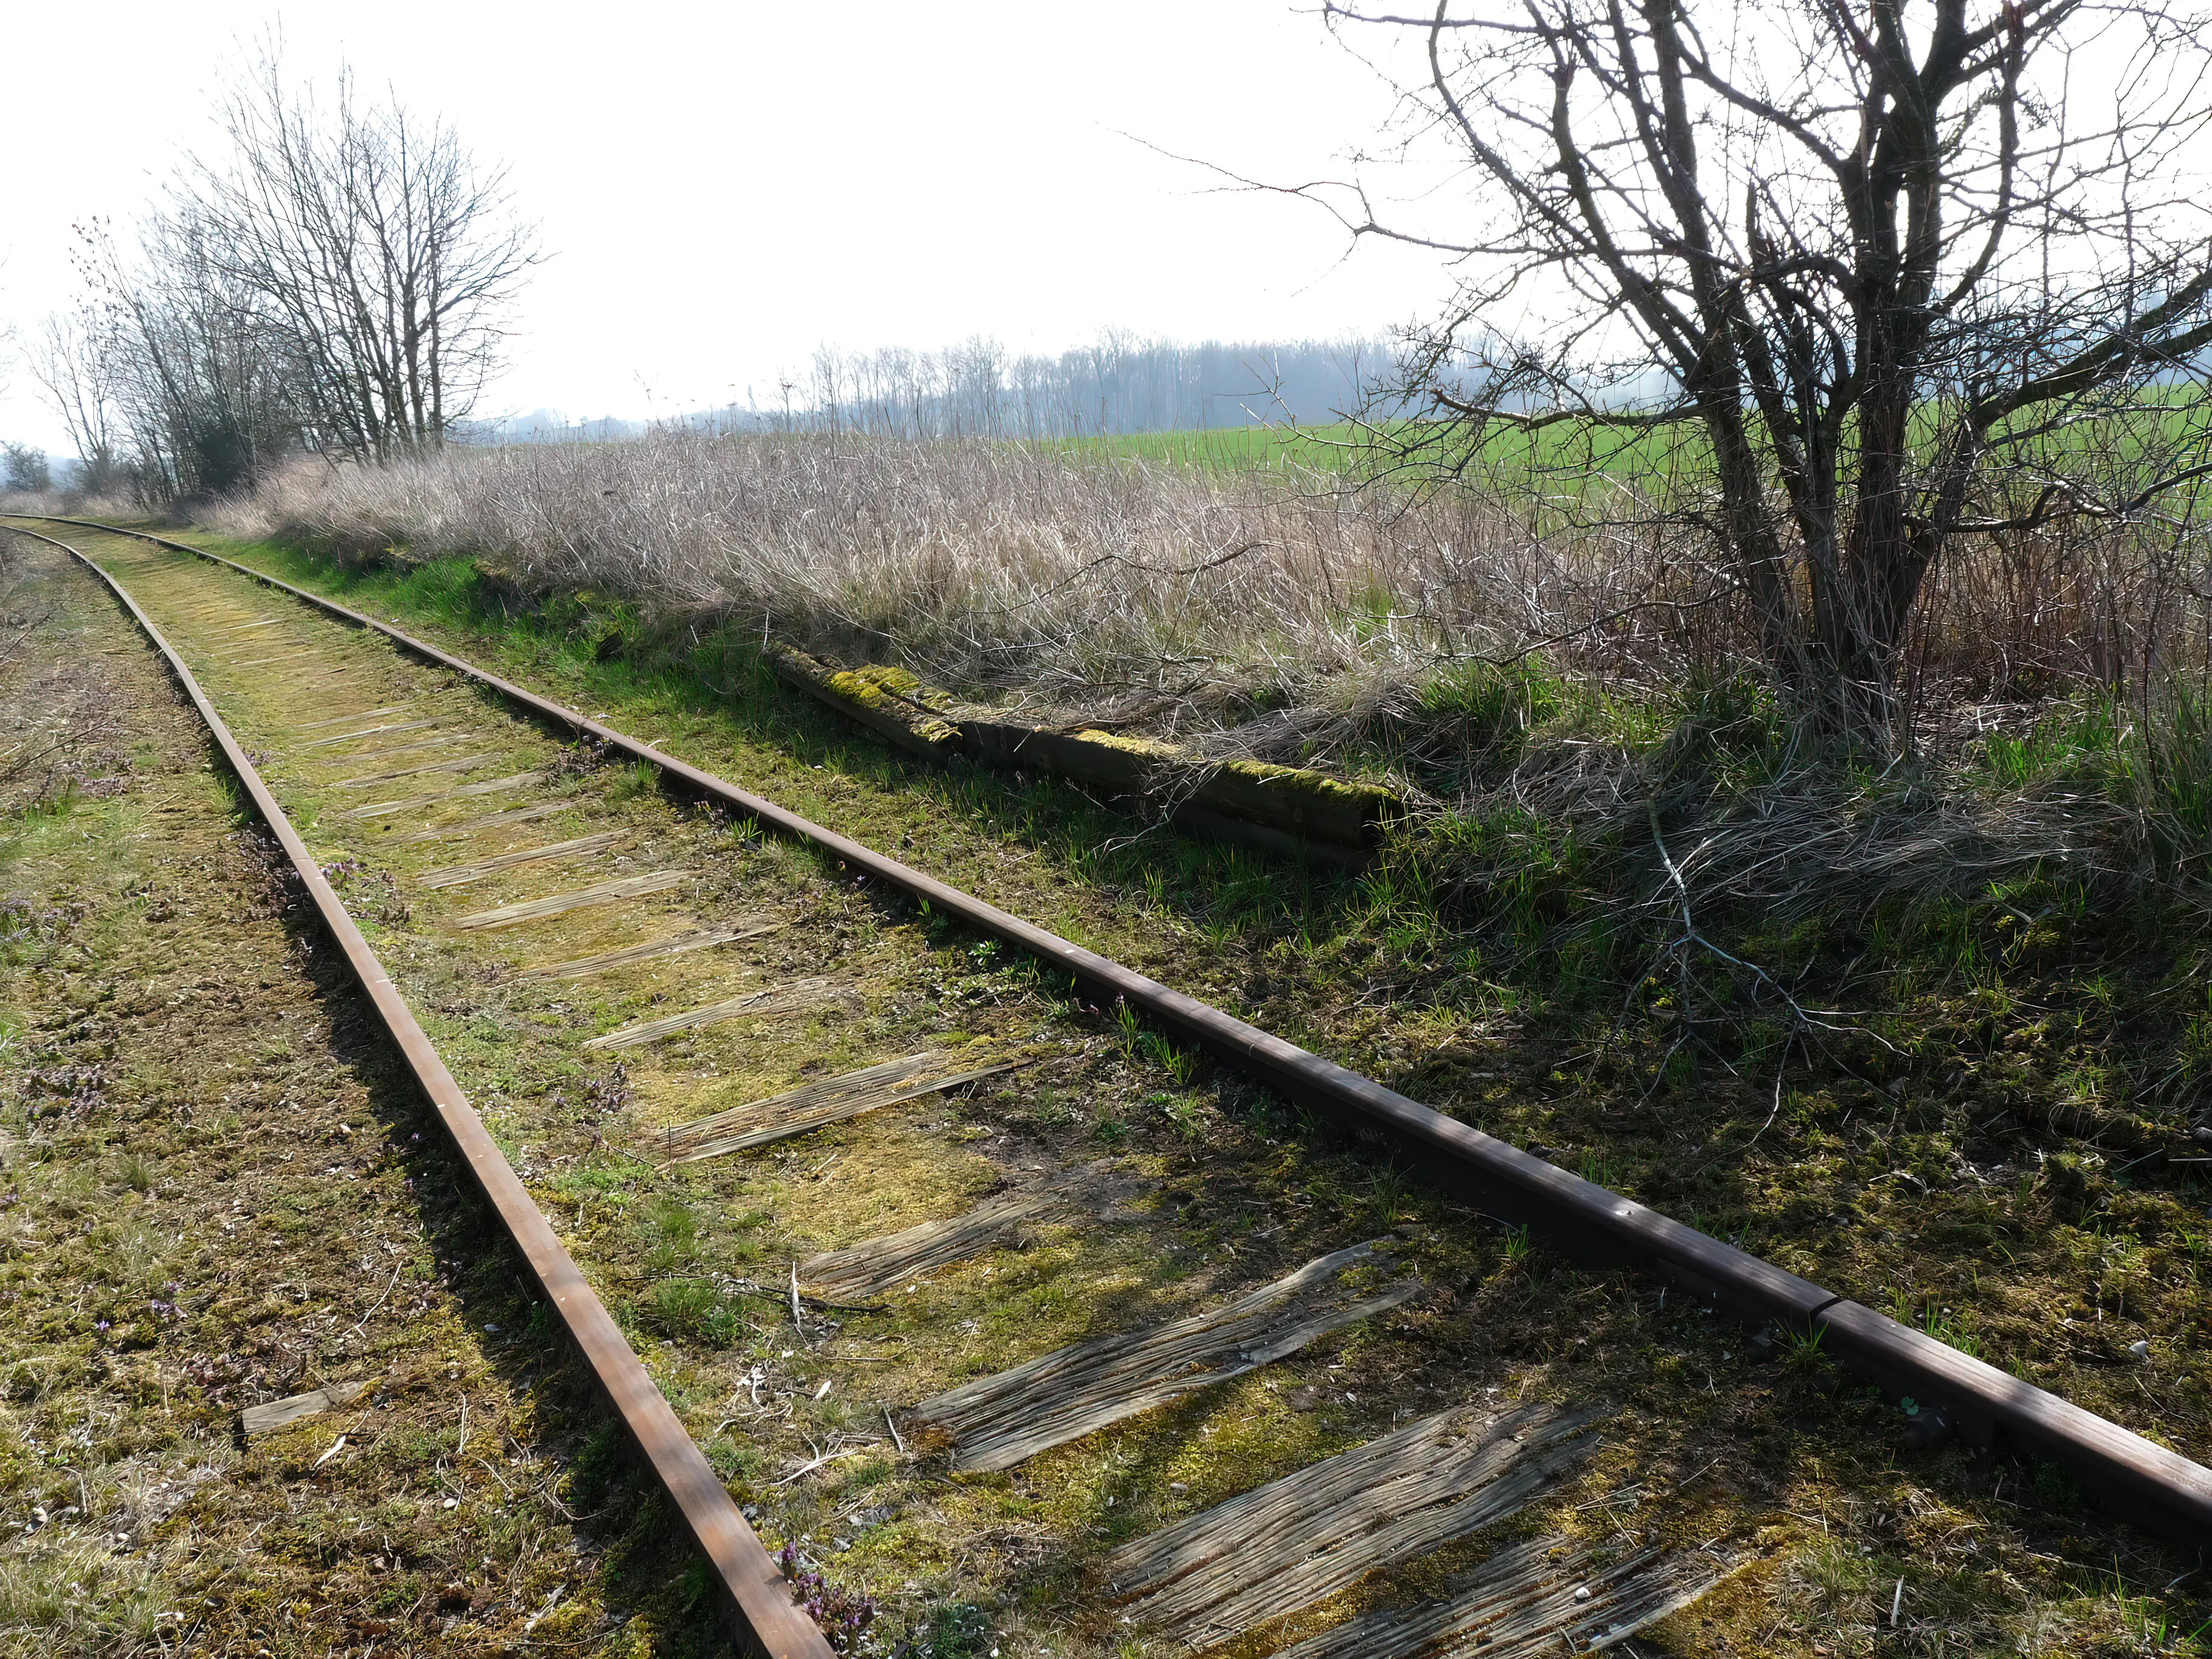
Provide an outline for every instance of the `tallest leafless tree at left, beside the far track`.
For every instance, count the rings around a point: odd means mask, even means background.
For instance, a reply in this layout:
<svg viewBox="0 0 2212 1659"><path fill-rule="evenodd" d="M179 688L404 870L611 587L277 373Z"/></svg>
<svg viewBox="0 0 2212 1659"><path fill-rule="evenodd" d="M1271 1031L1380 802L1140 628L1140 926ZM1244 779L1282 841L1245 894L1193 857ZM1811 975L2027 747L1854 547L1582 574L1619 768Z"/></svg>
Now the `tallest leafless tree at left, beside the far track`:
<svg viewBox="0 0 2212 1659"><path fill-rule="evenodd" d="M226 274L290 336L305 440L389 458L434 447L500 367L535 230L440 119L363 104L341 71L327 113L274 51L221 104L228 150L175 186Z"/></svg>

